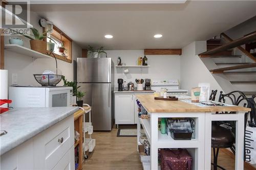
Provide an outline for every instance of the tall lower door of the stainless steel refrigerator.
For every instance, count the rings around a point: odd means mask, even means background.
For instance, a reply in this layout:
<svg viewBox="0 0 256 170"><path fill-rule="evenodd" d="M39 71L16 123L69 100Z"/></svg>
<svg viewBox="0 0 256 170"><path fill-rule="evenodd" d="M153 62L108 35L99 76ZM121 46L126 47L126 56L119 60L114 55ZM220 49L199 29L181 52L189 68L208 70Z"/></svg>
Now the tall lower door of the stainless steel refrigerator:
<svg viewBox="0 0 256 170"><path fill-rule="evenodd" d="M78 83L80 91L86 92L83 103L92 106L91 120L96 131L110 131L112 129L112 95L111 83ZM86 122L89 115L86 114Z"/></svg>

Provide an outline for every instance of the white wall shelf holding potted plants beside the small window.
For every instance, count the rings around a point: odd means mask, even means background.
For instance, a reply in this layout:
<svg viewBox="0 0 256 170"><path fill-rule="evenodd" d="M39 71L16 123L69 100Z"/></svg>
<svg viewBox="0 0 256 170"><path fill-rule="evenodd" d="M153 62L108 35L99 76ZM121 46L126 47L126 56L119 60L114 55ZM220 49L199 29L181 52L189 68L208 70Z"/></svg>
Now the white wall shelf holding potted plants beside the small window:
<svg viewBox="0 0 256 170"><path fill-rule="evenodd" d="M5 44L5 50L23 54L28 57L34 57L34 58L52 58L51 56L36 52L34 50L31 50L30 48L20 46L17 44Z"/></svg>

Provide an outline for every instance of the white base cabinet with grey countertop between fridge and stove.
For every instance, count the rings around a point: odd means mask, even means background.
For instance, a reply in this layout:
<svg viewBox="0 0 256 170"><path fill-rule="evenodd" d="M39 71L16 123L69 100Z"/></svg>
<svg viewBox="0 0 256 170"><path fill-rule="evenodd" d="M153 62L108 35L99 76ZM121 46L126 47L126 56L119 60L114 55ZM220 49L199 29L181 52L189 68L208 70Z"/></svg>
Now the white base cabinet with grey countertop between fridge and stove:
<svg viewBox="0 0 256 170"><path fill-rule="evenodd" d="M115 93L115 124L137 124L138 105L135 94L153 94L153 90L114 91Z"/></svg>

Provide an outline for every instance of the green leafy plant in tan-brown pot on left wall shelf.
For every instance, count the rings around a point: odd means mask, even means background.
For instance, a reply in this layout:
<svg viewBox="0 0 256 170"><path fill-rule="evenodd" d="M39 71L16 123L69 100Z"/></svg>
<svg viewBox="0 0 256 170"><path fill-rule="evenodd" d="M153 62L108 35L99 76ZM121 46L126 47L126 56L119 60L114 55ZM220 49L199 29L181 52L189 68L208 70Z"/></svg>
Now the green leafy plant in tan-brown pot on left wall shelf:
<svg viewBox="0 0 256 170"><path fill-rule="evenodd" d="M48 30L48 31L40 34L39 31L35 28L29 28L29 29L32 31L33 35L31 35L31 34L20 34L20 35L23 35L24 37L30 39L31 50L37 51L42 54L46 54L47 45L46 45L46 41L44 41L44 38L47 37L47 38L53 40L51 37L47 36L47 33L50 32L51 30Z"/></svg>

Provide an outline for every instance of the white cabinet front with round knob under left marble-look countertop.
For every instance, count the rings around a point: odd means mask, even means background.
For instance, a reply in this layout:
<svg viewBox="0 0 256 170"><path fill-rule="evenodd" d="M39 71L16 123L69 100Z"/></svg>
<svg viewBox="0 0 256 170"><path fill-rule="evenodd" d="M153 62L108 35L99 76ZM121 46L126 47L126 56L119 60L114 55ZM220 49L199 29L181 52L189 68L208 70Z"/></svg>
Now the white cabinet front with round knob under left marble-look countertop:
<svg viewBox="0 0 256 170"><path fill-rule="evenodd" d="M1 169L74 169L74 116L1 156Z"/></svg>

